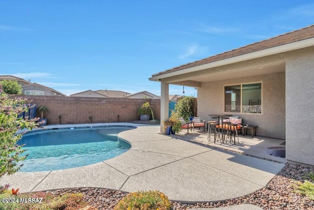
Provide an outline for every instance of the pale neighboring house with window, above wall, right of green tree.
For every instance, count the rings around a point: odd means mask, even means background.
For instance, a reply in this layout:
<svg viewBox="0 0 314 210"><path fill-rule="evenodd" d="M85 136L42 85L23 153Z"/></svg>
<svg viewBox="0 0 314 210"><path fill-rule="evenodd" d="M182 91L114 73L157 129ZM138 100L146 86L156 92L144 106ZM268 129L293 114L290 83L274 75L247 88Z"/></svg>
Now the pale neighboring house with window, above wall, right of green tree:
<svg viewBox="0 0 314 210"><path fill-rule="evenodd" d="M22 87L23 94L25 95L55 95L55 96L66 96L65 94L54 90L52 88L39 85L37 83L31 83Z"/></svg>

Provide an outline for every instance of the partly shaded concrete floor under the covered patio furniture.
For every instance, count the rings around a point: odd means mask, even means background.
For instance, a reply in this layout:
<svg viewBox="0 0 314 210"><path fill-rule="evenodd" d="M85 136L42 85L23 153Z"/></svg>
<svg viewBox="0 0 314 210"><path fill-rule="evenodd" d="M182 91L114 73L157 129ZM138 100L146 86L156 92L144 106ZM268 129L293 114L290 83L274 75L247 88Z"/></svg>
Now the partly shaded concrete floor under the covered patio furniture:
<svg viewBox="0 0 314 210"><path fill-rule="evenodd" d="M224 144L222 144L220 140L216 140L216 144L214 144L213 138L211 138L210 141L207 139L207 131L198 129L195 129L195 131L189 132L188 134L185 130L182 130L179 134L174 136L182 140L200 143L214 148L230 150L241 154L247 154L254 157L265 158L282 163L288 162L284 157L276 157L267 154L267 148L283 146L283 143L285 142L284 139L275 139L263 136L254 136L252 138L251 135L242 136L242 134L239 133L239 143L237 143L237 138L235 137L236 145L234 142L230 143L229 139L228 142L225 140Z"/></svg>

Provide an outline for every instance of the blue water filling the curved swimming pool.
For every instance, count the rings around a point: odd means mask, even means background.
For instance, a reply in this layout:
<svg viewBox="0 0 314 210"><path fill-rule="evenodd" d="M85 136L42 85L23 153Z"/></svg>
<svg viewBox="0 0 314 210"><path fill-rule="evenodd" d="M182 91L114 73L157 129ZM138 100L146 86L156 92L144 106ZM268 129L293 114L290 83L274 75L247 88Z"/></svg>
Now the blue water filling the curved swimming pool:
<svg viewBox="0 0 314 210"><path fill-rule="evenodd" d="M29 154L20 171L52 171L90 165L118 156L131 146L117 134L130 127L62 129L33 132L18 142Z"/></svg>

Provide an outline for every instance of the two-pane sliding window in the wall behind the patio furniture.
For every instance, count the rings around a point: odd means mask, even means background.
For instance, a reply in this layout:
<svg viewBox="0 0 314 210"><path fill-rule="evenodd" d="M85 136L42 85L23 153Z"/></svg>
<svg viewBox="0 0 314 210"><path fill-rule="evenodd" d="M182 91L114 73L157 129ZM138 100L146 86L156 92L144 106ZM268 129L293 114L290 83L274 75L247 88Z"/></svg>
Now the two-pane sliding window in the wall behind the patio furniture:
<svg viewBox="0 0 314 210"><path fill-rule="evenodd" d="M262 83L225 86L225 112L262 113Z"/></svg>

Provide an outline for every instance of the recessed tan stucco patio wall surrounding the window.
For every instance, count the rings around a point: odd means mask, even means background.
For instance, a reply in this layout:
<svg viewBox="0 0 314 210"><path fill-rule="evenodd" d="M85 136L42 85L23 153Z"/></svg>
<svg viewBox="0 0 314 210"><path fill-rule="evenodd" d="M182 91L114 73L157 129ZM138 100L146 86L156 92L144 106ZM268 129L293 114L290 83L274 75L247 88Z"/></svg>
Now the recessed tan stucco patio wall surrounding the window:
<svg viewBox="0 0 314 210"><path fill-rule="evenodd" d="M257 135L286 138L285 72L264 74L203 83L198 89L198 116L210 120L208 114L224 112L224 86L262 82L262 114L230 113L244 124L259 126Z"/></svg>

